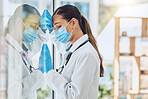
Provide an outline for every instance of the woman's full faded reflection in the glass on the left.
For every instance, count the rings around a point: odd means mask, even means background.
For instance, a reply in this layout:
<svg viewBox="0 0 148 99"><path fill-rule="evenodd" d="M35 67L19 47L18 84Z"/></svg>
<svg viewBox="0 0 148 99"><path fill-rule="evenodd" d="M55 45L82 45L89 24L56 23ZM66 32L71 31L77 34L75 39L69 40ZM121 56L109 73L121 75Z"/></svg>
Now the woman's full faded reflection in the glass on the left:
<svg viewBox="0 0 148 99"><path fill-rule="evenodd" d="M29 51L39 51L44 42L45 34L38 33L39 20L39 11L27 4L19 6L9 20L6 34L8 99L37 99L36 90L44 84L43 74L32 69L27 57Z"/></svg>

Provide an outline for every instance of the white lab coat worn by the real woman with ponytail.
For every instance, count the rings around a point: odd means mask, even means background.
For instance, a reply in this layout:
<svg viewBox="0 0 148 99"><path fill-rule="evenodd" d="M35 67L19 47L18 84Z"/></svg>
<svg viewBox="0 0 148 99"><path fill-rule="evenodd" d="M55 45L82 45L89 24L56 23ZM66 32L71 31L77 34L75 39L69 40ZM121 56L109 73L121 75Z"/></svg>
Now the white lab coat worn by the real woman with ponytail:
<svg viewBox="0 0 148 99"><path fill-rule="evenodd" d="M73 52L88 39L78 39L69 52ZM62 74L51 70L46 75L47 84L56 92L57 99L98 99L100 59L96 50L87 42L76 50Z"/></svg>

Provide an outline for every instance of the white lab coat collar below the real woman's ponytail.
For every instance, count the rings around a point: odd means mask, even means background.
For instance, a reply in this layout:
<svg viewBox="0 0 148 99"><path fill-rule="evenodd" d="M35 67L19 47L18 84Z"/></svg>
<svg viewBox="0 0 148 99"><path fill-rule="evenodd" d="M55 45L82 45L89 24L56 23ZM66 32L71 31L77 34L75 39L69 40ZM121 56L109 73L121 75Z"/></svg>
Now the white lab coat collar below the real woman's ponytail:
<svg viewBox="0 0 148 99"><path fill-rule="evenodd" d="M85 34L82 37L80 37L70 48L69 52L73 52L79 45L84 43L86 40L88 40L88 35Z"/></svg>

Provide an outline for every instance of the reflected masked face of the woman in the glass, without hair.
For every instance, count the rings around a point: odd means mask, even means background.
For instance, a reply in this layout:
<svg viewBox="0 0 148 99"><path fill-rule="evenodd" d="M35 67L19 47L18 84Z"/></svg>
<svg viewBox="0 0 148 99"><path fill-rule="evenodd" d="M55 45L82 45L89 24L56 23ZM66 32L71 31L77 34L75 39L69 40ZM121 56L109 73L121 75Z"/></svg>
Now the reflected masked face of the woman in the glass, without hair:
<svg viewBox="0 0 148 99"><path fill-rule="evenodd" d="M23 22L23 40L26 43L31 43L37 38L39 28L39 17L29 15Z"/></svg>

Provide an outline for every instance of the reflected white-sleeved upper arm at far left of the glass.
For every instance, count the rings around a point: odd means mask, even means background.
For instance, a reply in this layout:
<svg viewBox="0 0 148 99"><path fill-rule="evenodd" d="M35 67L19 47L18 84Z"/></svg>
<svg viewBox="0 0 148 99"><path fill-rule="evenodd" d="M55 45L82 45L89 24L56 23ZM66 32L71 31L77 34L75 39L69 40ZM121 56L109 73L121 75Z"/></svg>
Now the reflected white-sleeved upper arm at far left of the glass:
<svg viewBox="0 0 148 99"><path fill-rule="evenodd" d="M7 44L7 98L21 99L22 98L22 62L19 54L12 46Z"/></svg>

